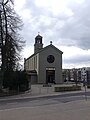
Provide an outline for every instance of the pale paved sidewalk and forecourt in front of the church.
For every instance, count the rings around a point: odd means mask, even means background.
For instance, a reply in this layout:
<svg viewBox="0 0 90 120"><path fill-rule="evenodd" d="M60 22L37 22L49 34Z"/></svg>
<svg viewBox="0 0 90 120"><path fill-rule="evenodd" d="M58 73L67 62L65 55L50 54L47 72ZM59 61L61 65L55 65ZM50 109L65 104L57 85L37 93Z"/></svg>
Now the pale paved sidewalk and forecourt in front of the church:
<svg viewBox="0 0 90 120"><path fill-rule="evenodd" d="M85 92L85 88L82 87L81 91L70 91L70 92L54 92L55 85L52 87L43 87L42 85L32 85L31 90L14 96L7 96L7 97L0 97L0 101L2 100L10 100L10 99L23 99L23 98L40 98L46 96L53 96L53 95L64 95L69 93L80 93ZM90 89L86 89L86 92L90 91Z"/></svg>

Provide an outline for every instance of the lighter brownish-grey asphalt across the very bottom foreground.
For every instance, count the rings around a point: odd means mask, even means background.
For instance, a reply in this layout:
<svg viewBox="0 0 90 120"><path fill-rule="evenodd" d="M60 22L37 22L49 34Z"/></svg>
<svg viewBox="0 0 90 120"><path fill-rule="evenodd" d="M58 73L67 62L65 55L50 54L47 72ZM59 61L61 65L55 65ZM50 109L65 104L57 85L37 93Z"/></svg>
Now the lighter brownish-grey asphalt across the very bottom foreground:
<svg viewBox="0 0 90 120"><path fill-rule="evenodd" d="M10 103L6 106L0 109L0 120L90 120L89 100L65 103L55 99L35 100L27 104Z"/></svg>

